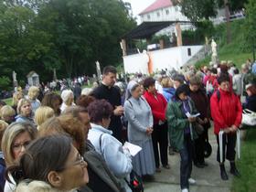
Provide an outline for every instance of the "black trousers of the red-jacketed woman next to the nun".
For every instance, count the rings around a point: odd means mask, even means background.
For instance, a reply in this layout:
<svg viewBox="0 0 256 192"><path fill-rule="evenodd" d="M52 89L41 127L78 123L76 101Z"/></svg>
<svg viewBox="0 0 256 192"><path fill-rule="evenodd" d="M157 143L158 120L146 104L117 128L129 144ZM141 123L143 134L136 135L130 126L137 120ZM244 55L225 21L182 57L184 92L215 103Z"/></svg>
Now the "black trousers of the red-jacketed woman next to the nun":
<svg viewBox="0 0 256 192"><path fill-rule="evenodd" d="M155 166L159 167L159 151L158 151L158 144L160 148L160 156L161 156L161 163L162 165L168 164L168 127L167 123L162 125L154 124L154 131L152 133L152 142L154 148L154 155L155 155Z"/></svg>

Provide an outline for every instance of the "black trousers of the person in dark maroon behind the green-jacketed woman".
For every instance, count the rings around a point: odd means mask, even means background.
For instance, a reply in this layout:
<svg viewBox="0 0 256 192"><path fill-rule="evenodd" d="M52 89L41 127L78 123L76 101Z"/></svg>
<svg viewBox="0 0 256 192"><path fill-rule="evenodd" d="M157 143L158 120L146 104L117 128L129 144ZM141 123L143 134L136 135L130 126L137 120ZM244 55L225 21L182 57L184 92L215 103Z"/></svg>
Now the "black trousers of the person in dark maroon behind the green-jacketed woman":
<svg viewBox="0 0 256 192"><path fill-rule="evenodd" d="M198 136L195 140L194 163L202 164L205 162L205 141L208 139L208 126L204 126L204 132Z"/></svg>

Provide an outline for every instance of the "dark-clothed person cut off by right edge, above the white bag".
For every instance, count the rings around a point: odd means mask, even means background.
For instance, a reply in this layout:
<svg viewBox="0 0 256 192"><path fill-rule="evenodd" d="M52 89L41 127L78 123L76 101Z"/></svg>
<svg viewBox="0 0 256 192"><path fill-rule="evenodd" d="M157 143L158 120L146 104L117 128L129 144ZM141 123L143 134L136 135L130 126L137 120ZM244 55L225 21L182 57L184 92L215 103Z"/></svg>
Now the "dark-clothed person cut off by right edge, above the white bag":
<svg viewBox="0 0 256 192"><path fill-rule="evenodd" d="M252 112L256 112L256 85L248 84L245 86L248 97L246 98L246 102L244 103L244 109L251 110Z"/></svg>

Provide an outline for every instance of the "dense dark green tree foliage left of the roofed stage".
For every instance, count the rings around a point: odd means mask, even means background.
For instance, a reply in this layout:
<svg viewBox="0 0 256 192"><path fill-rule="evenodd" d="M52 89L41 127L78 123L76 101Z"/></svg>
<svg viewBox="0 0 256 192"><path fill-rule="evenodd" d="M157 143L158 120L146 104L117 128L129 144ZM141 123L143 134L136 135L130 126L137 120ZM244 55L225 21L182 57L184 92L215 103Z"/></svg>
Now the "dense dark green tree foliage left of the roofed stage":
<svg viewBox="0 0 256 192"><path fill-rule="evenodd" d="M120 39L134 26L120 0L0 0L0 76L95 73L96 60L120 62Z"/></svg>

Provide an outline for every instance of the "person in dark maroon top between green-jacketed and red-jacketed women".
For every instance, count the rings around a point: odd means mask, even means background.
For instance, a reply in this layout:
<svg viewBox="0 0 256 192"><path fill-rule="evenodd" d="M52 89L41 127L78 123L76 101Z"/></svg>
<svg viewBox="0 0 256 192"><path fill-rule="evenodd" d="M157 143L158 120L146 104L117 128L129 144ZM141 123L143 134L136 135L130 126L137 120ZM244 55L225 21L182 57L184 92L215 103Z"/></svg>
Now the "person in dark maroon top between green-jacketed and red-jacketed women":
<svg viewBox="0 0 256 192"><path fill-rule="evenodd" d="M209 102L206 91L202 87L201 79L197 76L194 76L189 81L190 89L190 98L194 101L197 112L200 113L198 118L198 123L200 123L204 130L202 133L198 133L198 138L195 140L195 152L196 158L194 159L194 164L203 168L207 166L205 163L205 142L208 139L208 128L210 127L209 123Z"/></svg>

